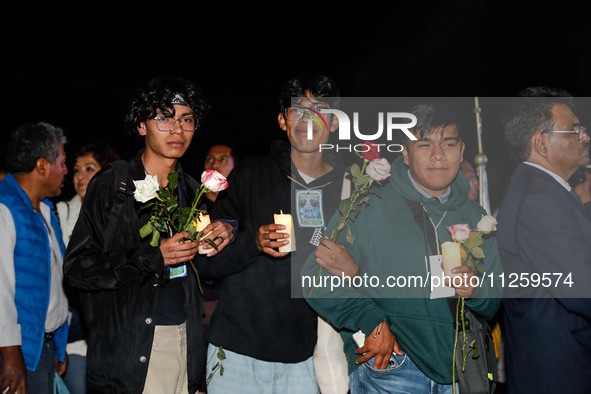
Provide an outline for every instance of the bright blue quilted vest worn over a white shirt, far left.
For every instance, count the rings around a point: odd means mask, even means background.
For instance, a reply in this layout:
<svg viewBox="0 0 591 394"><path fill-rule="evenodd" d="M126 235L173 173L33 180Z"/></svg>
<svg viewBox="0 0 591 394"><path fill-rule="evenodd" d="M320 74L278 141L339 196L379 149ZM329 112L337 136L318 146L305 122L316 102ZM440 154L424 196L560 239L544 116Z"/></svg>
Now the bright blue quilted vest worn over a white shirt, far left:
<svg viewBox="0 0 591 394"><path fill-rule="evenodd" d="M21 350L27 369L34 371L39 363L45 334L45 318L49 306L51 288L51 249L43 216L35 212L31 200L16 182L12 174L7 174L0 182L0 203L11 212L16 229L14 248L14 270L16 280L15 304L18 323L21 326ZM50 208L51 201L43 203ZM51 227L56 232L62 256L65 246L62 241L60 225L55 214L51 213ZM68 339L66 322L55 333L55 357L64 360Z"/></svg>

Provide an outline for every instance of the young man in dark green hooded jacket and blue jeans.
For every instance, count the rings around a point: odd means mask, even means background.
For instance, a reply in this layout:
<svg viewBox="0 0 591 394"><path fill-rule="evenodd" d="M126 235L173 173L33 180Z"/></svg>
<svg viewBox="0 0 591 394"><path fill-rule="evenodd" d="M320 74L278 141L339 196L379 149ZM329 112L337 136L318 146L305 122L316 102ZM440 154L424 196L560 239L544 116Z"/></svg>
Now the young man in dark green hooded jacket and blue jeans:
<svg viewBox="0 0 591 394"><path fill-rule="evenodd" d="M337 240L359 264L357 279L366 279L338 289L323 287L322 280L314 282L312 292L304 288L310 305L341 330L351 393L430 393L437 386L438 392L451 393L455 316L446 295L464 297L468 307L487 319L500 304L500 287L490 281L474 286L478 282L470 279L475 271L466 265L452 271L464 280L454 281L455 289L448 288L448 294L431 288L435 278L429 282L429 276L441 268L441 244L452 240L447 227L469 224L475 229L485 211L468 198L469 183L459 173L465 145L453 116L432 105L416 106L412 113L417 124L411 131L417 140L404 142L391 176L371 194L357 219L347 220L354 242L346 240L346 231ZM429 247L409 202L424 210L438 250ZM328 233L340 219L340 214L332 218ZM482 249L484 278L498 275L501 265L494 233L484 238ZM318 278L318 272L312 255L302 279ZM331 277L326 270L321 272L324 283L335 283ZM365 337L359 348L352 339L358 330Z"/></svg>

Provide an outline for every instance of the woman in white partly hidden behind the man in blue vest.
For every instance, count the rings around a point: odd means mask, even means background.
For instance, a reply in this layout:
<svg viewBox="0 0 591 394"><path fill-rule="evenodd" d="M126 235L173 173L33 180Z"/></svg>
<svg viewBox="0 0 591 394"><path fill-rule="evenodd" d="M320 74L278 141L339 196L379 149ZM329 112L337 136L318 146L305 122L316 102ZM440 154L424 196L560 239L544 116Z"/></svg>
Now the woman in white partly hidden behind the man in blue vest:
<svg viewBox="0 0 591 394"><path fill-rule="evenodd" d="M78 220L88 182L101 168L117 160L119 160L119 154L103 142L85 145L74 154L72 183L76 194L70 200L60 201L56 204L62 237L66 247L70 241L76 220ZM80 318L78 295L70 286L65 284L64 287L72 317L66 346L69 355L69 366L63 380L71 394L84 394L86 392L85 330L82 327Z"/></svg>

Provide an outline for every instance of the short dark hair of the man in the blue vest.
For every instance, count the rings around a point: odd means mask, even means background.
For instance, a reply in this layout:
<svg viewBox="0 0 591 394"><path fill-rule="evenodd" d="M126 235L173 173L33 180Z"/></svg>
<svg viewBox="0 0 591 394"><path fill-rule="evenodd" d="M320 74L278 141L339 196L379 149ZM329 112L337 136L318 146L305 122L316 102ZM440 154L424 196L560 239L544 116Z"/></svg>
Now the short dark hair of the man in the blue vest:
<svg viewBox="0 0 591 394"><path fill-rule="evenodd" d="M17 127L8 140L6 166L15 174L28 174L44 158L55 164L60 145L67 141L64 131L49 123L27 123Z"/></svg>

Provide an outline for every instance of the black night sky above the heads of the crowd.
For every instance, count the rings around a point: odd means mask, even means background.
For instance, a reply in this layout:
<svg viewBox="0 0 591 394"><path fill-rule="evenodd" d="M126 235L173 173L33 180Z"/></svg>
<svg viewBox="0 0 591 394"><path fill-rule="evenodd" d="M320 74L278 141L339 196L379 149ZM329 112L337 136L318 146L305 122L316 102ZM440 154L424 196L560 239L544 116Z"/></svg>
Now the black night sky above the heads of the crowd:
<svg viewBox="0 0 591 394"><path fill-rule="evenodd" d="M300 71L332 77L348 97L498 97L542 84L591 96L583 3L516 3L168 3L144 5L133 17L105 4L69 14L22 10L1 28L2 133L42 120L65 130L70 155L103 139L129 156L140 142L123 130L128 96L151 77L178 74L197 82L212 104L183 160L198 174L205 146L216 139L246 156L283 138L278 88ZM494 205L513 164L496 119L482 111ZM475 123L468 126L472 159Z"/></svg>

